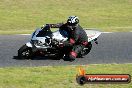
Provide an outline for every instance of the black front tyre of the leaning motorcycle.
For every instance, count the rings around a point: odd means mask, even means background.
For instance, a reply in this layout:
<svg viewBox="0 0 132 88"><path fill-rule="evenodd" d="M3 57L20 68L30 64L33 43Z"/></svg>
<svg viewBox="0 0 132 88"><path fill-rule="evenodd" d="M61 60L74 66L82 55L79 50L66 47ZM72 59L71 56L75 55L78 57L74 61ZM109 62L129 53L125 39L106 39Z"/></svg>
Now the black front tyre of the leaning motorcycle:
<svg viewBox="0 0 132 88"><path fill-rule="evenodd" d="M32 59L33 52L32 49L26 45L23 45L19 50L18 50L18 57L20 59Z"/></svg>

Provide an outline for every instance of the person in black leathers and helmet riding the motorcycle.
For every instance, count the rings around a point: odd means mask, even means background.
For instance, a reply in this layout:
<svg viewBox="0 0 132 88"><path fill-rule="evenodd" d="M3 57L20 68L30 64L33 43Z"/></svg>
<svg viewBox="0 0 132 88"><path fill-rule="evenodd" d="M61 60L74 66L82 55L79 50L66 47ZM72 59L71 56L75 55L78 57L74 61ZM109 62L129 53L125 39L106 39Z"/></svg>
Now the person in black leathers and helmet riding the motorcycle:
<svg viewBox="0 0 132 88"><path fill-rule="evenodd" d="M88 44L88 37L83 28L79 25L79 18L77 16L69 16L65 24L47 24L44 30L50 28L59 28L67 32L68 41L60 44L59 47L72 47L70 53L64 56L64 60L74 61L78 54ZM64 49L65 50L68 48Z"/></svg>

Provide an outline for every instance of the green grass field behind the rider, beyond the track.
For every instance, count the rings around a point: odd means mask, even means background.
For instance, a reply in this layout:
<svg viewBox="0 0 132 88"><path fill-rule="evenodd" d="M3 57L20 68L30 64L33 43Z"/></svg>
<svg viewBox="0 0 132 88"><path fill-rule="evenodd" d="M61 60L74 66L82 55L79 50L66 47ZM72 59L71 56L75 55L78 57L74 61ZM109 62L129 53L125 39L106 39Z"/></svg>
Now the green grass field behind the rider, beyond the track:
<svg viewBox="0 0 132 88"><path fill-rule="evenodd" d="M84 28L132 31L132 0L0 0L0 34L31 33L77 15Z"/></svg>

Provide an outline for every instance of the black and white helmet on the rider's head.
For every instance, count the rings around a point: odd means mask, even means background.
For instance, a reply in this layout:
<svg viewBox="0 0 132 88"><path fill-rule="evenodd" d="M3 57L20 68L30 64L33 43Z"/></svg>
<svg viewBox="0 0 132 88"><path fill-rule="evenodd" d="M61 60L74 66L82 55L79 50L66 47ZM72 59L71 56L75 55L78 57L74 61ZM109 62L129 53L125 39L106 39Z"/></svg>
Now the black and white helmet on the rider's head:
<svg viewBox="0 0 132 88"><path fill-rule="evenodd" d="M77 16L69 16L68 20L67 20L67 24L69 26L73 26L76 27L79 23L79 18Z"/></svg>

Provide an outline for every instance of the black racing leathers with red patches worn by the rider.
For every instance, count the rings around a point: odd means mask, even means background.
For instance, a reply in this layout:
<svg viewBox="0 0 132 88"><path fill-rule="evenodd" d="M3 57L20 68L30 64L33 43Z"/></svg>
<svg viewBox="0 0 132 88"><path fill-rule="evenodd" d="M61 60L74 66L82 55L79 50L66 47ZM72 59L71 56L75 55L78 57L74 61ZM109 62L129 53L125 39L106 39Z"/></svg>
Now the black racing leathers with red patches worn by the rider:
<svg viewBox="0 0 132 88"><path fill-rule="evenodd" d="M71 61L75 60L78 54L83 50L83 48L88 44L88 37L83 28L78 24L78 26L72 28L67 23L60 26L60 30L65 30L68 33L68 41L63 43L64 46L72 46L72 49L66 59Z"/></svg>

